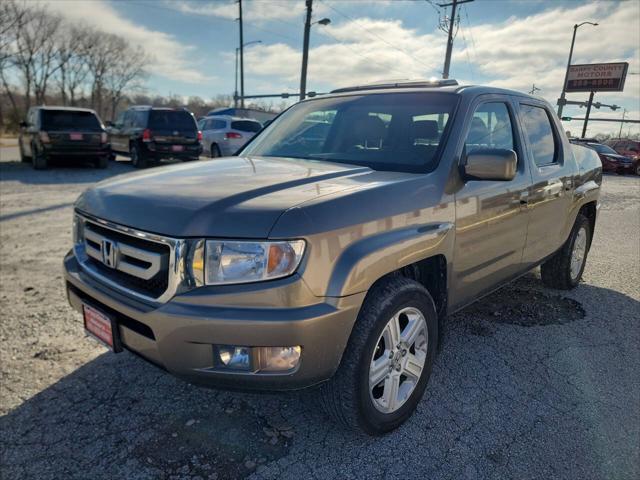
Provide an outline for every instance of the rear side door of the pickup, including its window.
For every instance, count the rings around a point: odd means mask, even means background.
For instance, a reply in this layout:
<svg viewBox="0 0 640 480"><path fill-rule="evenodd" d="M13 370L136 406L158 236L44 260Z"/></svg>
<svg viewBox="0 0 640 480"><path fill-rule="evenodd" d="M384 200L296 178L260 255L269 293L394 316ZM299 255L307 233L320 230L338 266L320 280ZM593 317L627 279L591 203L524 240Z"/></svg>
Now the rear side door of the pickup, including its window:
<svg viewBox="0 0 640 480"><path fill-rule="evenodd" d="M543 102L519 102L519 118L532 186L525 263L533 264L554 253L566 240L567 218L576 171L571 145L563 141L556 115Z"/></svg>

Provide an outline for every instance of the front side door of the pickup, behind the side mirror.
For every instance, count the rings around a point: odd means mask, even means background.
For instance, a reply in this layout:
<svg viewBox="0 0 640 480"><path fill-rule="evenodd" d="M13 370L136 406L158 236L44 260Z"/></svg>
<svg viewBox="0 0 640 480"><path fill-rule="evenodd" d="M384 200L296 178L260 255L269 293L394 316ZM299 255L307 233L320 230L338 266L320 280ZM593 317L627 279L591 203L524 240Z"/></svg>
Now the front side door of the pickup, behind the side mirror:
<svg viewBox="0 0 640 480"><path fill-rule="evenodd" d="M489 96L474 107L461 158L481 148L516 152L518 169L509 181L465 180L456 193L456 240L452 307L469 303L522 271L531 177L522 155L508 97Z"/></svg>

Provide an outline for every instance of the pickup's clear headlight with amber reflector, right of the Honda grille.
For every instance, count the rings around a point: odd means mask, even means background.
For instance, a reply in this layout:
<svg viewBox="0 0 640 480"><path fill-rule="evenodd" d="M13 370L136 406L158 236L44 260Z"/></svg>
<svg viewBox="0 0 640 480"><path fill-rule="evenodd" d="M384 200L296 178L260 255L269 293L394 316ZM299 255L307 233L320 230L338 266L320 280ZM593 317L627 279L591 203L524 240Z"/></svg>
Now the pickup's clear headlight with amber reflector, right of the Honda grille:
<svg viewBox="0 0 640 480"><path fill-rule="evenodd" d="M291 275L302 260L304 240L255 242L207 240L192 271L206 285L249 283ZM204 271L203 271L204 270Z"/></svg>

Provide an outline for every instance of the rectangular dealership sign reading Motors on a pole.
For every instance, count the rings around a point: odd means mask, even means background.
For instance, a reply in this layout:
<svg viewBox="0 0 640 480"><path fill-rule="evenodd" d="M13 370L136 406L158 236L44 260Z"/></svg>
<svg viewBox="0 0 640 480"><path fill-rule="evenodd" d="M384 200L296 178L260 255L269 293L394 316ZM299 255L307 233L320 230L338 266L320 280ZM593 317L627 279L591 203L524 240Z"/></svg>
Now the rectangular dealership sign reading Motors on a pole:
<svg viewBox="0 0 640 480"><path fill-rule="evenodd" d="M592 63L571 65L567 75L566 92L621 92L629 64Z"/></svg>

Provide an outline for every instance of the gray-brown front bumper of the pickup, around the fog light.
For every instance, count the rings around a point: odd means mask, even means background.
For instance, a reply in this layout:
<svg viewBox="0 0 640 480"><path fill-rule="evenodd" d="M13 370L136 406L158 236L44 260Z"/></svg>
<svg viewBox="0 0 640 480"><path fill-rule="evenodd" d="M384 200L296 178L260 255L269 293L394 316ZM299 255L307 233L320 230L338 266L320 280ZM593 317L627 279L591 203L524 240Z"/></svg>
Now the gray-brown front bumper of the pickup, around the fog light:
<svg viewBox="0 0 640 480"><path fill-rule="evenodd" d="M278 305L287 295L311 297L300 294L308 289L293 276L262 285L203 287L152 306L98 283L72 252L64 270L71 306L81 312L87 303L114 317L126 349L187 381L229 389L295 390L330 378L365 295ZM234 298L241 304L230 305ZM232 372L215 367L214 345L300 345L302 355L286 373Z"/></svg>

